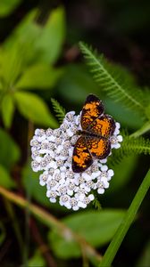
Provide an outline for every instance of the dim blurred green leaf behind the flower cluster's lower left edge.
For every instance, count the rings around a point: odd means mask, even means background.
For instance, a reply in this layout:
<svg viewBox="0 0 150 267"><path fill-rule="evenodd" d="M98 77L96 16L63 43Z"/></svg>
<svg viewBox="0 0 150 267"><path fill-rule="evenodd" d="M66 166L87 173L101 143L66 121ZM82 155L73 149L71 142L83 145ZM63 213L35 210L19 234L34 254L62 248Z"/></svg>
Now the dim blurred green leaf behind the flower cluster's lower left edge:
<svg viewBox="0 0 150 267"><path fill-rule="evenodd" d="M39 184L39 173L31 170L30 163L24 166L21 181L24 189L31 198L34 198L43 206L50 206L50 202L46 198L46 187Z"/></svg>

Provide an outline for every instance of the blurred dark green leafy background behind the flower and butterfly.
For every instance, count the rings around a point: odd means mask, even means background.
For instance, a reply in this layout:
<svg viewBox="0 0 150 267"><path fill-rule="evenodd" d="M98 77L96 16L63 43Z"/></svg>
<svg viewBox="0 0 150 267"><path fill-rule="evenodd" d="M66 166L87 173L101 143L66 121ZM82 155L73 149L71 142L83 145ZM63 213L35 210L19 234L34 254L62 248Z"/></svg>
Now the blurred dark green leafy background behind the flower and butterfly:
<svg viewBox="0 0 150 267"><path fill-rule="evenodd" d="M38 184L39 174L30 169L29 139L36 127L59 125L52 97L66 111L78 113L88 93L104 101L106 112L121 128L133 133L141 127L141 117L112 101L96 85L78 43L92 44L114 66L128 69L137 85L148 87L149 25L150 2L146 0L0 0L0 185L44 207L101 254L146 174L149 158L123 158L113 166L110 189L99 197L102 209L94 211L91 205L87 211L74 213L47 200L45 188ZM28 221L29 214L3 197L0 201L1 266L26 266L27 259L28 266L83 265L77 244L32 216ZM147 196L114 266L150 266L149 219ZM84 223L85 228L80 227Z"/></svg>

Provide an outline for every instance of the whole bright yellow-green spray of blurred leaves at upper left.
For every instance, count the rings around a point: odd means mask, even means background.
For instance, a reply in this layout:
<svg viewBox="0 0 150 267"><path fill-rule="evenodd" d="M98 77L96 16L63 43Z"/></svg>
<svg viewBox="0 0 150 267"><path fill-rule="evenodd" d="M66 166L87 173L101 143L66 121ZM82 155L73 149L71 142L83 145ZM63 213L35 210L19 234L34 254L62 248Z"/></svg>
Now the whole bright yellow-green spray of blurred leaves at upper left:
<svg viewBox="0 0 150 267"><path fill-rule="evenodd" d="M53 90L63 69L53 67L60 56L65 36L63 7L56 8L44 25L30 12L0 48L0 101L4 126L10 128L14 109L39 125L56 127L46 102L27 89ZM20 92L21 91L21 92Z"/></svg>

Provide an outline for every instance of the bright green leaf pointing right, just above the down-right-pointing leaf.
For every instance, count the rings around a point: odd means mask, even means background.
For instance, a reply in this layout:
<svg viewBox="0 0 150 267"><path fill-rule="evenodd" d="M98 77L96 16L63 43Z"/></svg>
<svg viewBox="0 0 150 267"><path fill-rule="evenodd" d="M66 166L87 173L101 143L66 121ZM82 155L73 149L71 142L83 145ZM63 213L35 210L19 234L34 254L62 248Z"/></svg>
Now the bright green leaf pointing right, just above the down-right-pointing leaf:
<svg viewBox="0 0 150 267"><path fill-rule="evenodd" d="M26 69L18 81L16 88L23 89L48 89L55 85L63 69L54 69L48 64L36 64Z"/></svg>

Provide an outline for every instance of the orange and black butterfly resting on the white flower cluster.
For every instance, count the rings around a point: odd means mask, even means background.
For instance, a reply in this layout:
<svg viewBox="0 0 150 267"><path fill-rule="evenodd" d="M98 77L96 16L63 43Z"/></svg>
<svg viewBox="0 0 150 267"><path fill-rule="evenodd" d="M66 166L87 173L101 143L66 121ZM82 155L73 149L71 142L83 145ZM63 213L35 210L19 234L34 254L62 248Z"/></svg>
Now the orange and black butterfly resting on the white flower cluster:
<svg viewBox="0 0 150 267"><path fill-rule="evenodd" d="M80 118L82 130L74 145L72 171L82 173L92 165L95 158L104 159L110 154L111 141L115 130L115 121L104 114L104 104L96 95L89 94L83 106Z"/></svg>

